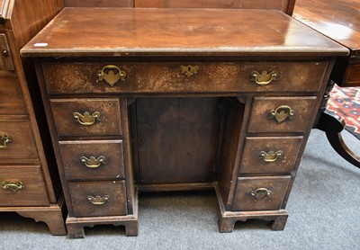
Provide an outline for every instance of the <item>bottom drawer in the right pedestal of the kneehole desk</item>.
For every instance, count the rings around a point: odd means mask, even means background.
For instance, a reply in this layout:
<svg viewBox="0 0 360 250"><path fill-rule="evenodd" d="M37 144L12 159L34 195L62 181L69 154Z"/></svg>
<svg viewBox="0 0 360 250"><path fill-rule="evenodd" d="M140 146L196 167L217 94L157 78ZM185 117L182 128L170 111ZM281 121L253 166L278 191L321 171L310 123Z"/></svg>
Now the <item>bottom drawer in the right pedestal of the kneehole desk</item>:
<svg viewBox="0 0 360 250"><path fill-rule="evenodd" d="M290 178L239 177L232 210L280 210Z"/></svg>

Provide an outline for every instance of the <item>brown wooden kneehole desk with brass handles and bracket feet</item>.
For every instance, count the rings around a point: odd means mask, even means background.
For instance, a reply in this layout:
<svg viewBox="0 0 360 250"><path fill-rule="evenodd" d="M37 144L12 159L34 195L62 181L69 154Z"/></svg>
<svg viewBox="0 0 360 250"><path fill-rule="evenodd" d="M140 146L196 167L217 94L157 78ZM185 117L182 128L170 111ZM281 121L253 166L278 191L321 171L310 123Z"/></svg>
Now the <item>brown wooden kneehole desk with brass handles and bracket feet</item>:
<svg viewBox="0 0 360 250"><path fill-rule="evenodd" d="M139 191L205 188L221 232L247 219L283 229L347 49L276 11L66 8L22 53L35 58L68 236L84 237L96 224L137 235Z"/></svg>

